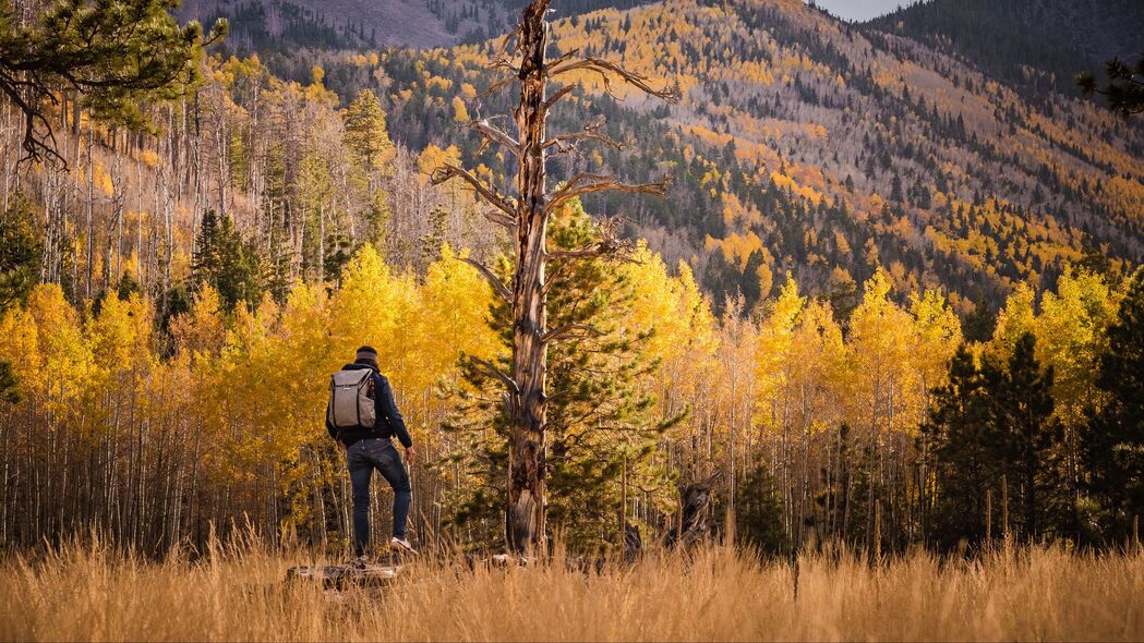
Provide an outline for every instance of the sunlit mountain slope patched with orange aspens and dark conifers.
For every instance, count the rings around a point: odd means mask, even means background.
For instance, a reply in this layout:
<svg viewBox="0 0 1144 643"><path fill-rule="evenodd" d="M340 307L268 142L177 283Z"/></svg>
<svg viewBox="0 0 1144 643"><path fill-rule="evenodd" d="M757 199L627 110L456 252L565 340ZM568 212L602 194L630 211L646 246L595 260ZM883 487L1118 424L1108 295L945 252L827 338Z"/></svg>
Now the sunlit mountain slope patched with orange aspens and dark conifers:
<svg viewBox="0 0 1144 643"><path fill-rule="evenodd" d="M844 309L881 267L899 293L940 287L966 311L1019 280L1051 286L1094 251L1121 267L1144 254L1144 127L1089 101L1042 87L1030 102L1027 87L956 51L847 25L800 0L672 0L559 19L553 31L555 50L678 84L683 101L668 106L618 103L586 78L588 95L555 113L551 129L604 116L628 145L561 156L553 180L668 173L667 200L614 195L586 205L627 217L669 262L691 263L720 301L740 292L752 305L789 272ZM455 144L507 181L505 157L478 154L456 126L460 113L511 110L510 92L477 97L492 82L495 46L376 57L287 49L263 61L300 81L319 64L342 104L370 87L397 142L414 152Z"/></svg>

